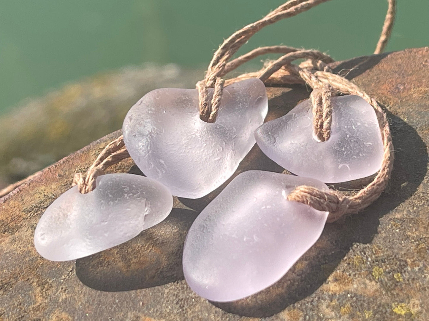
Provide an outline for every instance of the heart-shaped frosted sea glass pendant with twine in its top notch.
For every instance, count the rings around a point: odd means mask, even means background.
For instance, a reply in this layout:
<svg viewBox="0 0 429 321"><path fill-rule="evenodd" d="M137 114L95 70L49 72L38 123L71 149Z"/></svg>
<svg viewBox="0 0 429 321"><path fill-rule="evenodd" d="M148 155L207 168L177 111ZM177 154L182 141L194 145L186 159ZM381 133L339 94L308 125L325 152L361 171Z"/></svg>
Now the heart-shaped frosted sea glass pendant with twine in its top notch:
<svg viewBox="0 0 429 321"><path fill-rule="evenodd" d="M266 89L255 78L225 87L214 123L198 110L196 89L163 88L143 96L124 120L131 158L175 196L202 197L235 172L267 114Z"/></svg>

